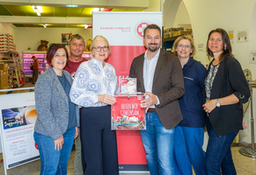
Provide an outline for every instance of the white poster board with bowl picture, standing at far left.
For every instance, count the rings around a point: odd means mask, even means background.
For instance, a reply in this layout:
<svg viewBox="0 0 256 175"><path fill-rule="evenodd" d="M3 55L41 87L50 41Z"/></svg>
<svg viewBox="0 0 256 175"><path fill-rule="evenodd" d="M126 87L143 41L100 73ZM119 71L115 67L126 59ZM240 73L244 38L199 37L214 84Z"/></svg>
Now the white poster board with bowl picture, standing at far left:
<svg viewBox="0 0 256 175"><path fill-rule="evenodd" d="M0 108L4 169L39 159L33 139L37 119L33 93L1 95Z"/></svg>

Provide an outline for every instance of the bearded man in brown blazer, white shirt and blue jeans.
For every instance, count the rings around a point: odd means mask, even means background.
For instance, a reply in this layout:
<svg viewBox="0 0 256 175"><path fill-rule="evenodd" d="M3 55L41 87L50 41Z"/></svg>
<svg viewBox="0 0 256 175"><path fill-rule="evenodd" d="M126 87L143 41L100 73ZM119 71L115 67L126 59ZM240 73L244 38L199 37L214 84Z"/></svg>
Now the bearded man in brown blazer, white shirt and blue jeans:
<svg viewBox="0 0 256 175"><path fill-rule="evenodd" d="M174 174L174 129L182 120L178 99L184 95L179 59L160 49L161 30L157 25L144 29L147 51L136 57L129 76L137 78L138 92L146 95L141 107L146 110L146 130L141 130L150 174Z"/></svg>

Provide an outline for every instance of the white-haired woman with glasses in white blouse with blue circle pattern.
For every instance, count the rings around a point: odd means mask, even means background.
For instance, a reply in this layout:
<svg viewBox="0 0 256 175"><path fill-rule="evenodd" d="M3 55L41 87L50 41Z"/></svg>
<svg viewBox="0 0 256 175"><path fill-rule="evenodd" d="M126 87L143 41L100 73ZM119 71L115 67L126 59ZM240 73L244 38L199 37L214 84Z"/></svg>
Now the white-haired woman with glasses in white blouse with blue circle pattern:
<svg viewBox="0 0 256 175"><path fill-rule="evenodd" d="M119 174L111 105L118 90L113 66L105 62L111 49L103 36L91 42L92 58L77 68L70 98L81 109L81 144L84 175Z"/></svg>

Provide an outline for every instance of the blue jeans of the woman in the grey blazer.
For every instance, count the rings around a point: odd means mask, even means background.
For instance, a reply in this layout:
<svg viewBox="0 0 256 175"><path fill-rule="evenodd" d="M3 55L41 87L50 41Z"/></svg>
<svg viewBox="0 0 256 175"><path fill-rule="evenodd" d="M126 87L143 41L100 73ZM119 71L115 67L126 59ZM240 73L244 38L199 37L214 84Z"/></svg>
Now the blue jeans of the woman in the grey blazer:
<svg viewBox="0 0 256 175"><path fill-rule="evenodd" d="M40 175L66 175L69 155L72 150L75 128L67 130L62 150L55 150L55 142L51 137L34 132L33 138L40 152Z"/></svg>

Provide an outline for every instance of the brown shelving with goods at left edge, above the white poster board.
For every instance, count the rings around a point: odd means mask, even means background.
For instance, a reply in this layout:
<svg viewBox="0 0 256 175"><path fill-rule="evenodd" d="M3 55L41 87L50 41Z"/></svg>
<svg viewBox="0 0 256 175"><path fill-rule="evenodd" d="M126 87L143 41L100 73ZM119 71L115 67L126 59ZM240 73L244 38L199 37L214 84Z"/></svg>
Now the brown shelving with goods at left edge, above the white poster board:
<svg viewBox="0 0 256 175"><path fill-rule="evenodd" d="M24 84L22 59L17 52L0 52L1 89L18 88Z"/></svg>

